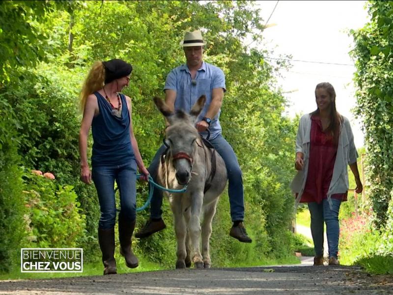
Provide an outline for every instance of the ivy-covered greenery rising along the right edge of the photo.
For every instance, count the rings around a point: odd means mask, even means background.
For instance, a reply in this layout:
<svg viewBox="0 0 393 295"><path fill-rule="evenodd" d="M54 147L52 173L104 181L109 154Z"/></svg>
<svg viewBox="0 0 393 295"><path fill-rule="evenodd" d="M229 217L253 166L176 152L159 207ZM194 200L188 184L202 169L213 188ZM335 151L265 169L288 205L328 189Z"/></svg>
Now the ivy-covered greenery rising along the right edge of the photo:
<svg viewBox="0 0 393 295"><path fill-rule="evenodd" d="M369 1L368 12L370 22L351 31L356 113L365 130L370 198L379 223L384 223L393 190L393 2Z"/></svg>

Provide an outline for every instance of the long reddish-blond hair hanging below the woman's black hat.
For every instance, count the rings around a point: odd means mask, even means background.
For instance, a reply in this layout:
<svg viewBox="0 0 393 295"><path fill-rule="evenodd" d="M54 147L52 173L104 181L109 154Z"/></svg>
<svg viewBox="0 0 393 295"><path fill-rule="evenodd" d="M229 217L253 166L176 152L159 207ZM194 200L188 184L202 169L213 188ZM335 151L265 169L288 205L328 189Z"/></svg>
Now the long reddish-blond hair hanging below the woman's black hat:
<svg viewBox="0 0 393 295"><path fill-rule="evenodd" d="M81 111L84 111L84 106L86 105L87 96L91 93L100 90L104 86L105 81L105 68L101 61L96 61L91 66L89 73L84 80L82 91L79 95L80 97L80 107Z"/></svg>

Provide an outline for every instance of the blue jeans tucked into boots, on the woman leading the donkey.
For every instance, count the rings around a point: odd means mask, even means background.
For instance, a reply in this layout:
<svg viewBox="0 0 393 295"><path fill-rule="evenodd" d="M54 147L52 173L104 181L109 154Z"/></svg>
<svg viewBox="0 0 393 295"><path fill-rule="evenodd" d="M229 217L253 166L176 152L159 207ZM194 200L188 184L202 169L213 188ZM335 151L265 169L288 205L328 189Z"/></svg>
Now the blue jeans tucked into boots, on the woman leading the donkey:
<svg viewBox="0 0 393 295"><path fill-rule="evenodd" d="M92 169L92 179L97 189L101 209L98 228L111 229L116 222L115 180L120 192L119 218L129 221L136 219L137 164L135 160L123 165L95 166Z"/></svg>

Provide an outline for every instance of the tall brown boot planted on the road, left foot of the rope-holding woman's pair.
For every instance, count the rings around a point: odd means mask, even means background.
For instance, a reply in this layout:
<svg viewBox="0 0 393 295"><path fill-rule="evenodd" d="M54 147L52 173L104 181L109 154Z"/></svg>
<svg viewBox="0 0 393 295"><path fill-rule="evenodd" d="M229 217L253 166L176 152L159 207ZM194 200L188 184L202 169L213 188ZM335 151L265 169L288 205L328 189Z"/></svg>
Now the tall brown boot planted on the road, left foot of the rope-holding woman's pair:
<svg viewBox="0 0 393 295"><path fill-rule="evenodd" d="M116 260L114 259L114 228L98 229L98 242L102 252L104 275L117 273Z"/></svg>

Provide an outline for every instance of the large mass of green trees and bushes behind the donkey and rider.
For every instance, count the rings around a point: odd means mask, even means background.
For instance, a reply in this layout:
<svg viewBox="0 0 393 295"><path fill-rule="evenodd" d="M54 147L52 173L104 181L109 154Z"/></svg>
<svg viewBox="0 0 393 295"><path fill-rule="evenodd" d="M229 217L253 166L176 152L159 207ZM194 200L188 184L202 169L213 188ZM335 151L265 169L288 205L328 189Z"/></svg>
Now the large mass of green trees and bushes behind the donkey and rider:
<svg viewBox="0 0 393 295"><path fill-rule="evenodd" d="M85 74L95 60L121 58L133 65L132 81L124 92L133 100L134 131L148 165L164 133L164 121L151 98L163 96L166 75L184 62L179 42L186 30L194 29L201 29L207 40L204 59L225 72L227 92L221 122L224 136L243 170L245 222L254 239L252 245L245 245L229 237L229 202L224 194L214 219L213 260L222 266L233 265L234 261L252 264L263 257L289 254L293 199L288 184L293 174L290 163L295 129L292 121L281 116L285 100L275 90L276 66L265 60L269 53L243 43L249 36L258 45L263 36L263 22L253 2L0 4L1 17L10 18L18 11L22 11L22 17L15 26L0 23L1 32L7 29L6 34L0 34L1 70L9 79L0 87L0 97L18 114L9 117L14 120L18 141L15 156L19 158L15 163L50 171L59 185L74 187L81 214L86 217L87 236L80 239L80 246L84 247L87 260L99 257L94 240L99 208L94 187L79 180L77 141L81 114L77 112L77 97ZM23 32L21 42L16 37L19 31ZM18 43L14 48L23 54L14 55L12 47L3 45L3 41ZM4 140L9 142L10 137ZM144 195L146 188L138 187L138 205L143 203L140 196ZM170 224L167 202L163 209ZM147 214L139 214L138 226L146 218ZM167 229L137 241L136 251L152 261L172 266L170 258L176 251L173 236L173 229Z"/></svg>

